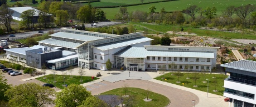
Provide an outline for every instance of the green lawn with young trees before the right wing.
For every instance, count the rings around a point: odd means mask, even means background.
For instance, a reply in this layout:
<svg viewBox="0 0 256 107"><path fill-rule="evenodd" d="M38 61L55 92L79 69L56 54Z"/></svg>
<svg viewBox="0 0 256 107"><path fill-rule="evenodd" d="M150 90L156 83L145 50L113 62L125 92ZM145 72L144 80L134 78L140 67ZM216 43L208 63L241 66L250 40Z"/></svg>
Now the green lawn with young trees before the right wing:
<svg viewBox="0 0 256 107"><path fill-rule="evenodd" d="M173 73L175 74L175 73ZM177 73L176 73L177 74ZM181 73L182 76L180 77L180 82L181 83L176 83L176 81L178 81L178 78L176 75L172 75L172 73L167 73L164 75L164 77L167 79L162 79L162 76L154 78L157 80L161 80L161 81L166 81L168 83L172 83L172 84L176 84L176 85L181 85L182 83L184 83L184 86L186 86L187 88L192 88L192 89L196 89L196 90L200 90L200 91L205 91L207 92L207 83L203 83L202 81L207 81L205 79L209 79L209 93L212 94L217 94L217 95L223 95L224 92L224 79L228 78L227 75L223 75L223 74L205 74L205 78L204 78L204 73L189 73L189 77L190 79L186 79L187 78L187 73ZM195 75L196 75L196 85L197 87L194 87L195 85ZM215 75L215 76L214 76ZM212 77L216 77L214 80L214 78ZM218 90L218 92L214 92L213 90L215 90L215 82L216 81L216 90Z"/></svg>

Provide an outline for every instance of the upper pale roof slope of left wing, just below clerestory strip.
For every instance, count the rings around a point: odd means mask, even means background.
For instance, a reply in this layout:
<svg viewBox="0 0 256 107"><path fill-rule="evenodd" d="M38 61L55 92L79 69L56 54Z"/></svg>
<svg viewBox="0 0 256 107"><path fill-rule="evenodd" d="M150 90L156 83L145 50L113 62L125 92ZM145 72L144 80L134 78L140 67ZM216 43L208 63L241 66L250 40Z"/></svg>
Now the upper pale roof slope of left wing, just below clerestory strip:
<svg viewBox="0 0 256 107"><path fill-rule="evenodd" d="M103 39L103 37L94 37L94 36L90 36L90 35L74 34L74 33L67 33L67 32L57 32L57 33L51 34L51 36L67 38L67 39L82 40L85 42L90 41L90 40Z"/></svg>

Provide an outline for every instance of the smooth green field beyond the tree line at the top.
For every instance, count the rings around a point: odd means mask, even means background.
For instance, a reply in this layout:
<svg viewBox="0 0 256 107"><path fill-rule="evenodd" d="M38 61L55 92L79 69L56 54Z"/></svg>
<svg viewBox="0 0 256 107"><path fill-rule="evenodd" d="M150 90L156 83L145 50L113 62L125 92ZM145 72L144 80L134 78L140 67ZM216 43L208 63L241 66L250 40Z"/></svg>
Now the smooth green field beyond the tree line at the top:
<svg viewBox="0 0 256 107"><path fill-rule="evenodd" d="M107 1L107 0L105 0ZM114 1L114 0L109 0L109 1ZM127 0L123 0L127 1ZM120 2L120 0L119 0ZM137 0L139 2L139 0ZM123 2L125 3L125 2ZM241 1L241 0L179 0L179 1L170 1L170 2L161 2L161 3L153 3L153 4L143 4L140 6L131 6L127 7L128 12L140 10L140 11L145 11L149 12L149 7L155 6L156 12L160 12L160 9L162 7L165 7L165 11L181 11L182 9L186 9L187 7L191 5L197 5L201 8L206 8L206 7L216 7L218 12L217 14L220 14L222 10L224 10L228 6L241 6L245 4L256 4L255 0L246 0L246 1ZM106 14L108 19L114 19L114 15L118 13L119 7L118 8L102 8L103 11Z"/></svg>

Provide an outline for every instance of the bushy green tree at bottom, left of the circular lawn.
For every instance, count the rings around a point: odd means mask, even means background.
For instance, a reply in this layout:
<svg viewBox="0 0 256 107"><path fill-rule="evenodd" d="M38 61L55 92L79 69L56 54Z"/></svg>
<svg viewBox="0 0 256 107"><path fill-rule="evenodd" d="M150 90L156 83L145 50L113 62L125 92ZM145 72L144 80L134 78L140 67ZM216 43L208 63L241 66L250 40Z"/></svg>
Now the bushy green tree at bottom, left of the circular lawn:
<svg viewBox="0 0 256 107"><path fill-rule="evenodd" d="M82 85L72 84L57 93L55 104L56 107L79 106L89 96L91 96L91 93Z"/></svg>

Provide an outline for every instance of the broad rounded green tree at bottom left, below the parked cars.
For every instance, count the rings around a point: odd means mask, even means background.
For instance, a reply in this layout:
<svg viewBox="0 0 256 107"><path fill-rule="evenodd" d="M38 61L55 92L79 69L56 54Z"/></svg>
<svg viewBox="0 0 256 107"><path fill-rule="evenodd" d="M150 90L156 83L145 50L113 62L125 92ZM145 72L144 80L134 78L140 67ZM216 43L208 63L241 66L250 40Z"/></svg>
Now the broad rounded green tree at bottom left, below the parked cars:
<svg viewBox="0 0 256 107"><path fill-rule="evenodd" d="M10 99L10 106L43 106L52 104L54 89L36 83L26 83L8 89L5 95Z"/></svg>

